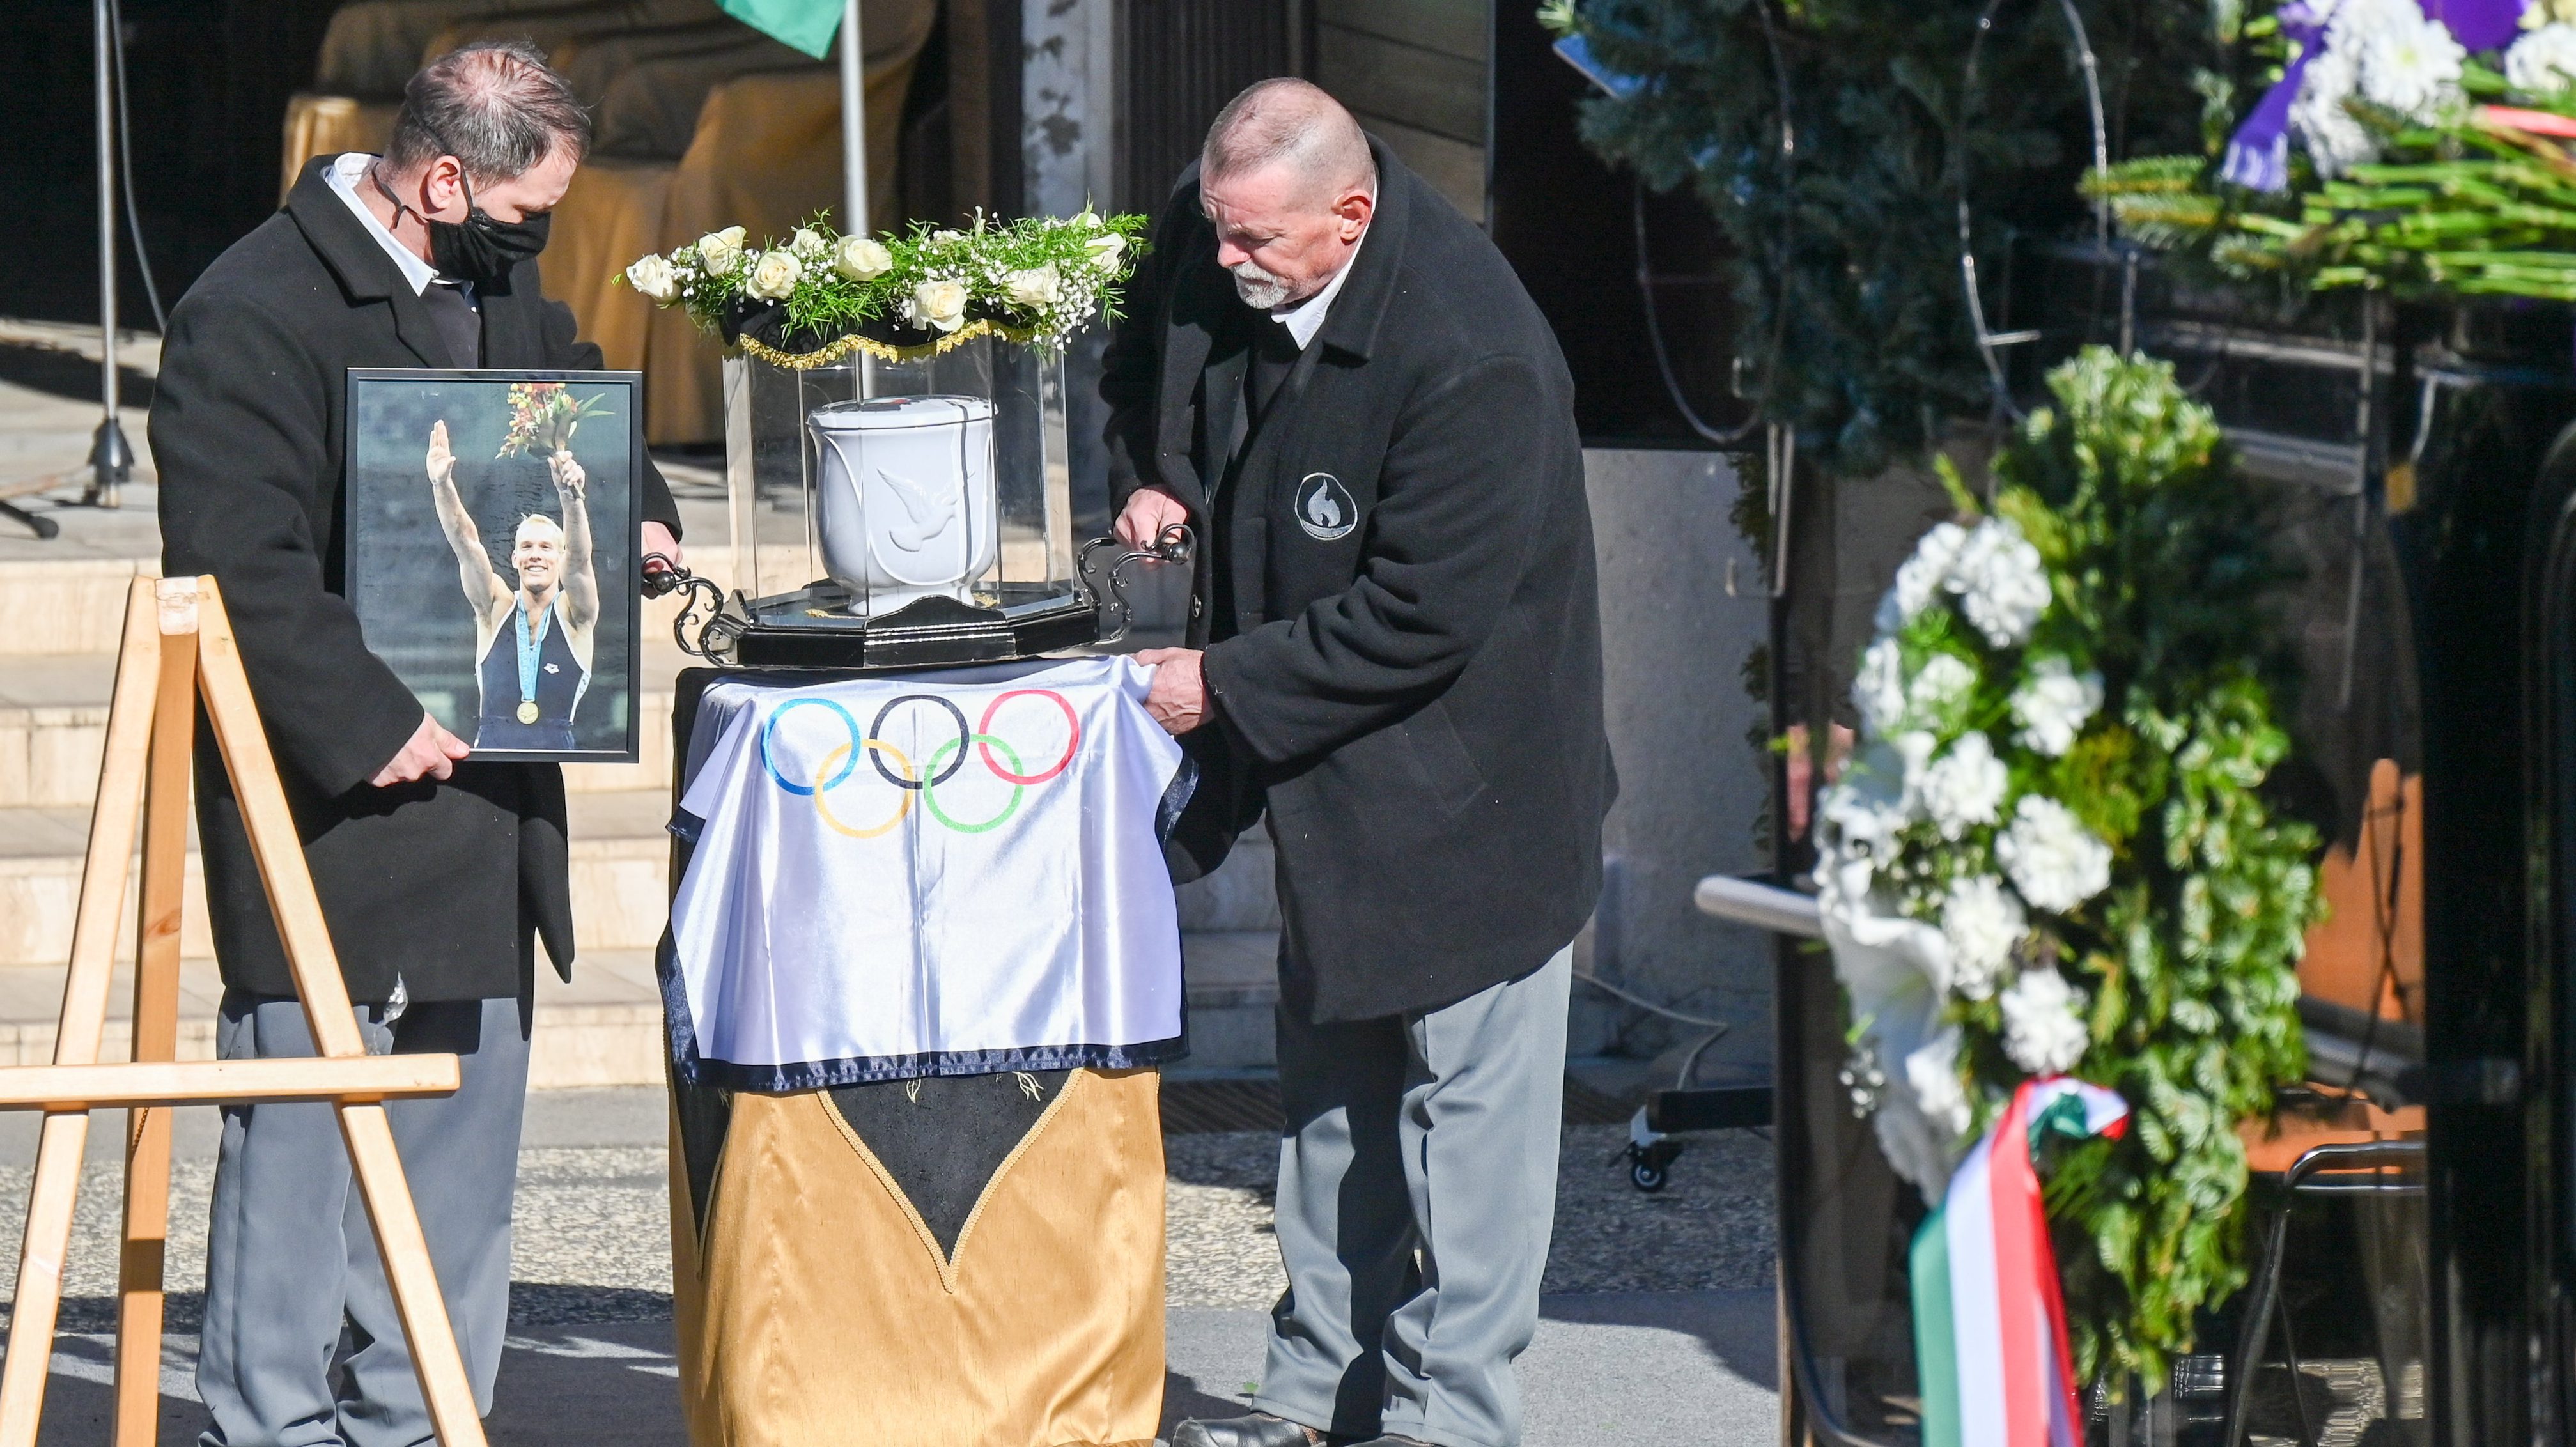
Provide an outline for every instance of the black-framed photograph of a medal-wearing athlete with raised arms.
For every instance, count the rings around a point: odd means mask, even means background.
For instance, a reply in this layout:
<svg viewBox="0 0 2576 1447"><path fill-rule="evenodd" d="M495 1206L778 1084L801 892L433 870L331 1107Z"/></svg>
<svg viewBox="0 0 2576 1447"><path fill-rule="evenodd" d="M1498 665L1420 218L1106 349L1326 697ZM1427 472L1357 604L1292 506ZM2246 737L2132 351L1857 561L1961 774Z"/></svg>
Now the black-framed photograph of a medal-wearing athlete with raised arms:
<svg viewBox="0 0 2576 1447"><path fill-rule="evenodd" d="M644 378L348 373L348 600L477 760L636 762Z"/></svg>

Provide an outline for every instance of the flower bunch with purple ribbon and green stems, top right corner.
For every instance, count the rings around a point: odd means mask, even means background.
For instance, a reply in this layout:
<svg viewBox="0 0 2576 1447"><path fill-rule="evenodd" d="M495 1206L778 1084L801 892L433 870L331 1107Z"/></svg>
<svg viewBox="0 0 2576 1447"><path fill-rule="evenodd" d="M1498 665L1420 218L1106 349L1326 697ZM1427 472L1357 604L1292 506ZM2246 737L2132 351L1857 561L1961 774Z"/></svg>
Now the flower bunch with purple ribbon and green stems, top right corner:
<svg viewBox="0 0 2576 1447"><path fill-rule="evenodd" d="M2241 8L2226 8L2241 15ZM2223 39L2269 82L2208 157L2089 175L2138 242L2233 278L2576 301L2576 3L2287 0Z"/></svg>

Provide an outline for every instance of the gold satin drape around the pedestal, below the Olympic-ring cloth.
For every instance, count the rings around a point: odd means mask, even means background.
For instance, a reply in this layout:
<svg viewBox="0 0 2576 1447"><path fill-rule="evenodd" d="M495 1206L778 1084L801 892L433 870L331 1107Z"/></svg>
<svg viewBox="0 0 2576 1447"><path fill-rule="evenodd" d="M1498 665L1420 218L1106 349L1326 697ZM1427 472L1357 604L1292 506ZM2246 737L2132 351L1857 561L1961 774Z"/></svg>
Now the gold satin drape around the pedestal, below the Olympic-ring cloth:
<svg viewBox="0 0 2576 1447"><path fill-rule="evenodd" d="M956 1256L824 1092L732 1097L701 1251L672 1130L696 1447L1146 1447L1162 1416L1154 1071L1072 1071Z"/></svg>

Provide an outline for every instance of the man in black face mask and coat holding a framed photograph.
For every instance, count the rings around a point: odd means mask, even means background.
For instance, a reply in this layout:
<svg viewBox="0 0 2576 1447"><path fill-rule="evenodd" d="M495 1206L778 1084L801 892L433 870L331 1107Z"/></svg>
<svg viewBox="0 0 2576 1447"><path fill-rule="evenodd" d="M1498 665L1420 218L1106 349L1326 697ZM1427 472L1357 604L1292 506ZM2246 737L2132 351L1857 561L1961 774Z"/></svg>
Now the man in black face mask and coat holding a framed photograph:
<svg viewBox="0 0 2576 1447"><path fill-rule="evenodd" d="M312 162L286 209L206 268L170 317L152 404L162 566L224 590L368 1045L464 1061L464 1089L392 1117L484 1411L507 1326L536 937L572 966L564 780L556 765L474 762L358 636L345 399L348 368L600 366L536 273L587 142L533 49L433 62L384 157ZM677 556L659 476L644 515L647 551ZM196 788L219 1053L309 1056L211 752ZM224 1110L196 1383L211 1447L433 1439L327 1105Z"/></svg>

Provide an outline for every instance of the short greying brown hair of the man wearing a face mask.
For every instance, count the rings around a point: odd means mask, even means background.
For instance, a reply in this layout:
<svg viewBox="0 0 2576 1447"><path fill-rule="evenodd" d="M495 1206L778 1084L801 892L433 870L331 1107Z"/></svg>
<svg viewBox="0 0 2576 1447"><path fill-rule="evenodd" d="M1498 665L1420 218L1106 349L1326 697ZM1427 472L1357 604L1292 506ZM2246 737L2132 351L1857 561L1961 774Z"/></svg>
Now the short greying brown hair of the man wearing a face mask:
<svg viewBox="0 0 2576 1447"><path fill-rule="evenodd" d="M528 41L477 41L420 67L402 88L384 160L412 173L451 154L466 180L489 185L528 175L556 147L572 147L572 160L590 152L590 111L572 85Z"/></svg>

